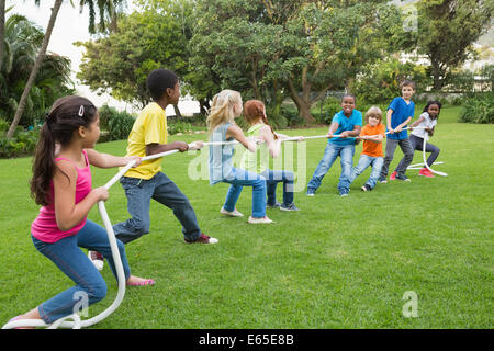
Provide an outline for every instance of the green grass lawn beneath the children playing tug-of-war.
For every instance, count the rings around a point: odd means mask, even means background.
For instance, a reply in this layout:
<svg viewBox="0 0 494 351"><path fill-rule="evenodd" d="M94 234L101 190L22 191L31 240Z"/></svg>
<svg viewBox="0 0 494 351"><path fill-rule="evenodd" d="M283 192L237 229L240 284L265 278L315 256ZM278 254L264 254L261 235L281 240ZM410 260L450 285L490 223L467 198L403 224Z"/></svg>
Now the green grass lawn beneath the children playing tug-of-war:
<svg viewBox="0 0 494 351"><path fill-rule="evenodd" d="M493 328L494 125L458 124L458 113L459 107L444 109L430 140L441 149L438 161L445 162L435 168L449 177L424 179L409 170L411 183L378 184L364 193L360 186L368 169L341 199L337 161L314 197L295 193L301 212L268 210L272 225L247 224L250 189L237 204L245 217L221 216L227 185L190 180L194 155L166 157L164 171L189 196L203 231L220 244L186 245L171 211L151 203L150 234L126 250L133 273L157 284L127 288L116 312L92 328ZM325 143L306 141L306 181ZM122 140L97 149L123 155L125 147ZM357 146L355 162L360 151ZM391 169L401 157L397 150ZM414 162L420 161L417 152ZM93 186L115 172L93 169ZM29 195L31 158L0 160L0 176L3 325L72 283L31 242L30 226L38 211ZM126 219L121 185L110 193L110 218ZM278 194L281 199L281 186ZM89 218L101 224L97 208ZM102 274L109 295L90 307L90 316L116 294L108 265ZM416 318L402 313L408 291L418 296Z"/></svg>

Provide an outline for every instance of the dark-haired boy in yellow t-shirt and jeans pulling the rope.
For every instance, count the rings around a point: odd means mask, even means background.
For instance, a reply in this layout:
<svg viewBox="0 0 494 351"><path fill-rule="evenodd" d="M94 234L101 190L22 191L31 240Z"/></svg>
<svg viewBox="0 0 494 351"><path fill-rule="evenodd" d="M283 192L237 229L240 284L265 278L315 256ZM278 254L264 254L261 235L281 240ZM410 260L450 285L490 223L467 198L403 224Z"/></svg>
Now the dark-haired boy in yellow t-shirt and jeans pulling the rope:
<svg viewBox="0 0 494 351"><path fill-rule="evenodd" d="M178 77L170 70L156 69L147 77L147 88L153 102L141 111L128 136L127 156L149 156L178 149L188 150L183 141L167 143L167 116L165 109L177 104L180 98ZM195 141L198 148L202 141ZM150 200L166 205L173 211L182 225L186 242L215 244L217 239L204 235L198 224L195 213L189 199L161 172L161 158L142 162L130 169L120 182L127 196L127 210L131 218L115 224L113 230L119 240L127 244L149 233ZM102 268L102 257L96 251L89 252L97 268ZM98 262L99 261L99 262Z"/></svg>

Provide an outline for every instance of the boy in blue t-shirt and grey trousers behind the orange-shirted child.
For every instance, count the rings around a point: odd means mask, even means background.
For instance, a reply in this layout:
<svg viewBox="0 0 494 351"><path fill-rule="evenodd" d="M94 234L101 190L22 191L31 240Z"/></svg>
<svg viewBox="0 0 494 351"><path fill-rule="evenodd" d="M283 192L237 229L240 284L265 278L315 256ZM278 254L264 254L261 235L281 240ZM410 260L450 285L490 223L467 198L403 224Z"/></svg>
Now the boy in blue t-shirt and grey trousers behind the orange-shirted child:
<svg viewBox="0 0 494 351"><path fill-rule="evenodd" d="M411 80L405 80L400 84L402 89L402 97L394 98L391 101L386 113L386 156L379 177L380 183L386 183L388 169L393 160L394 151L400 145L404 156L398 166L390 176L390 180L402 180L409 182L408 177L405 176L406 169L414 159L414 148L408 139L408 132L402 131L412 121L415 113L415 104L412 97L415 93L415 83Z"/></svg>

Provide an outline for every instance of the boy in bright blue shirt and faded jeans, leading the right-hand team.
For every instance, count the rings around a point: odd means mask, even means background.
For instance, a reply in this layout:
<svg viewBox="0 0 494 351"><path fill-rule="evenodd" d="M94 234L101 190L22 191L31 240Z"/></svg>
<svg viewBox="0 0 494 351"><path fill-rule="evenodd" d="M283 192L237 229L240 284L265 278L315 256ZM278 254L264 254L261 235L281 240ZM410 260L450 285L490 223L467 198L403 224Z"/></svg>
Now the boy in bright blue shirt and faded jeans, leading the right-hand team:
<svg viewBox="0 0 494 351"><path fill-rule="evenodd" d="M341 176L339 177L338 191L340 196L348 196L350 186L351 168L353 167L355 137L360 135L362 128L362 113L355 109L355 97L345 94L341 99L341 111L334 115L328 141L324 150L323 159L317 166L311 181L307 184L307 196L314 196L321 186L324 176L329 171L333 162L339 156L341 158ZM339 137L334 137L339 135Z"/></svg>

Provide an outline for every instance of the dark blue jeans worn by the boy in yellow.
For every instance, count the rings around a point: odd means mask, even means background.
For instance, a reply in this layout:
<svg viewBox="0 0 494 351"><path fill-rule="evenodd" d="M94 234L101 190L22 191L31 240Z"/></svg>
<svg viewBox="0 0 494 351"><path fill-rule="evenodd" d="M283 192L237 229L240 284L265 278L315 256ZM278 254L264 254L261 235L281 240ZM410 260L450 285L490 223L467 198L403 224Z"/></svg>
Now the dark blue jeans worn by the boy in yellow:
<svg viewBox="0 0 494 351"><path fill-rule="evenodd" d="M124 244L149 233L150 200L173 211L173 215L182 225L182 233L187 240L195 241L201 236L198 219L189 199L162 172L156 173L149 180L122 177L122 188L127 196L127 210L131 218L113 226L115 236Z"/></svg>

